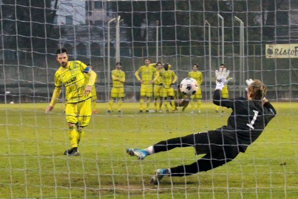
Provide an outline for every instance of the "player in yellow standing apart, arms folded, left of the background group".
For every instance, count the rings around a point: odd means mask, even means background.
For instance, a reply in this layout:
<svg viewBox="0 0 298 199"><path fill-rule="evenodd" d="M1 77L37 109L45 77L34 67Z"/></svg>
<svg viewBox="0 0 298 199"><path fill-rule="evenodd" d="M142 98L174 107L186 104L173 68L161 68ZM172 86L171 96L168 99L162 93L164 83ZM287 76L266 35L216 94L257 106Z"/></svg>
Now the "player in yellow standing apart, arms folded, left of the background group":
<svg viewBox="0 0 298 199"><path fill-rule="evenodd" d="M121 113L122 102L125 97L124 83L125 73L121 70L121 62L116 63L116 69L112 71L113 88L111 90L111 98L109 100L109 107L107 113L110 114L114 101L118 100L118 113Z"/></svg>

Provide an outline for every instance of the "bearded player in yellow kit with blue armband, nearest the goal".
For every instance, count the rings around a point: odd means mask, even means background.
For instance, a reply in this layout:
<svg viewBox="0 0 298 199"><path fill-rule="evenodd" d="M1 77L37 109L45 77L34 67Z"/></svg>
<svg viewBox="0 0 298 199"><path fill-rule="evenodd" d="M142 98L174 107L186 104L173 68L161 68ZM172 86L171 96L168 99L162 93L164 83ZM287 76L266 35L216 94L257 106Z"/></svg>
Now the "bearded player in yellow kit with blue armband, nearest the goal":
<svg viewBox="0 0 298 199"><path fill-rule="evenodd" d="M55 89L53 97L46 108L46 113L53 110L56 99L61 94L62 85L66 90L65 116L69 127L69 138L72 148L64 152L65 155L78 156L77 146L84 136L84 127L88 125L91 109L91 89L96 80L96 73L80 61L68 61L65 48L57 50L57 61L60 68L55 73ZM89 82L85 85L83 73L89 75Z"/></svg>

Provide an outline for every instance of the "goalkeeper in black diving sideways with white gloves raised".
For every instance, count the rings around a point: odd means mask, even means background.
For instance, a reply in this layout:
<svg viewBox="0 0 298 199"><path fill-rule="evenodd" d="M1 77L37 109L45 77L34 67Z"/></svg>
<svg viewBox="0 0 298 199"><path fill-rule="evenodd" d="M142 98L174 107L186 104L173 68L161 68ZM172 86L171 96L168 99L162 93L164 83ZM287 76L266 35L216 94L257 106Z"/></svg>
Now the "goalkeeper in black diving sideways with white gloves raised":
<svg viewBox="0 0 298 199"><path fill-rule="evenodd" d="M176 137L160 141L145 149L127 148L126 152L143 160L146 156L176 147L195 149L195 155L205 154L189 165L155 170L151 177L153 184L158 184L164 176L187 176L198 172L209 171L232 161L236 156L253 143L263 132L269 121L276 115L272 104L265 98L267 87L260 80L247 80L247 98L224 99L221 91L231 80L227 78L226 69L216 71L217 84L213 103L232 112L227 125L215 130L192 133L184 137Z"/></svg>

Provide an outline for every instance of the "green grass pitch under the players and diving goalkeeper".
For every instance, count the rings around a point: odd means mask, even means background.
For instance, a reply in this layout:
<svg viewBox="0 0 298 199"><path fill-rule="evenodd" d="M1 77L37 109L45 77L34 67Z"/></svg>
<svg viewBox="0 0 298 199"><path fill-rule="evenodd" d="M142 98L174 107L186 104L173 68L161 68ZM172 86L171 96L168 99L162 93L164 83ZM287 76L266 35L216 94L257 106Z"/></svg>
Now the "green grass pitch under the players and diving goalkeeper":
<svg viewBox="0 0 298 199"><path fill-rule="evenodd" d="M47 104L0 104L0 198L117 199L296 199L298 197L298 103L273 103L278 115L262 135L232 162L187 177L149 183L157 168L196 161L192 147L157 153L143 161L126 154L160 140L212 130L230 113L214 113L202 103L201 114L143 113L125 103L124 114L106 115L98 103L79 150L70 147L64 104L45 114ZM117 104L114 104L117 107Z"/></svg>

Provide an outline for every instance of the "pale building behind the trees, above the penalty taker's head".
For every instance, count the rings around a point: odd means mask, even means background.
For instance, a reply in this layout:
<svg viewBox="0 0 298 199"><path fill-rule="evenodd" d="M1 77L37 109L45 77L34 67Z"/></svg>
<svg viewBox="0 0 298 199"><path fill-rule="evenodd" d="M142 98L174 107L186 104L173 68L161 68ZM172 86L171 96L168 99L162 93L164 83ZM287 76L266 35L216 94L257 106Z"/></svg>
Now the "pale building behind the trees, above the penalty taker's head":
<svg viewBox="0 0 298 199"><path fill-rule="evenodd" d="M56 1L52 0L53 7ZM107 22L116 17L109 1L59 0L56 9L56 28L61 30L59 46L67 48L74 59L106 56ZM116 45L115 23L110 25L110 56L113 57ZM120 28L120 32L120 40L127 45L126 28Z"/></svg>

